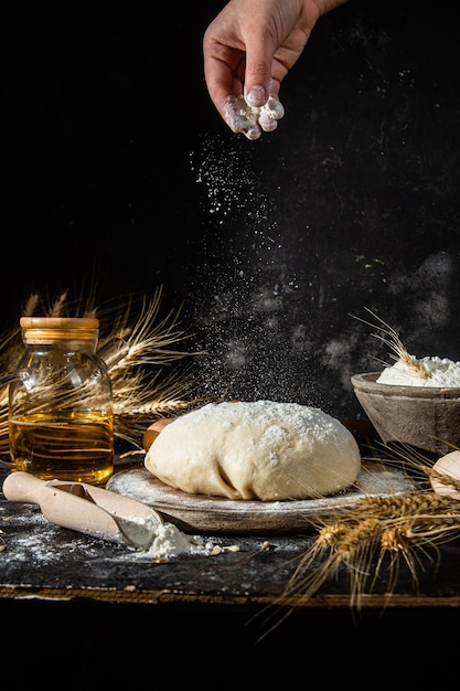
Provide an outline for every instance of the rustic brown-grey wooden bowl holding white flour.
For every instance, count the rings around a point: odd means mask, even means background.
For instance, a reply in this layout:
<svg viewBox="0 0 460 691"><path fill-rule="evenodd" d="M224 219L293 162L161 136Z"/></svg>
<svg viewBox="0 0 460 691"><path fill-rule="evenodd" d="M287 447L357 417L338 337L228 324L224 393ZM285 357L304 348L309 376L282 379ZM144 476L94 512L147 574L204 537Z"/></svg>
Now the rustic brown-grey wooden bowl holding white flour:
<svg viewBox="0 0 460 691"><path fill-rule="evenodd" d="M378 384L379 372L354 374L354 393L384 444L443 456L460 448L460 389Z"/></svg>

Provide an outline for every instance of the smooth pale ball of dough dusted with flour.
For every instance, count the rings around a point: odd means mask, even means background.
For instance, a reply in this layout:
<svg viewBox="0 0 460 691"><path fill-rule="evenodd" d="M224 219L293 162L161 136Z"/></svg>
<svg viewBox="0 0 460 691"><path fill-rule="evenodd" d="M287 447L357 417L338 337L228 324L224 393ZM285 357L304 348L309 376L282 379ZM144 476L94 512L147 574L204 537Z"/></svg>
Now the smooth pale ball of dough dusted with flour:
<svg viewBox="0 0 460 691"><path fill-rule="evenodd" d="M319 408L272 401L208 403L161 430L145 458L194 495L277 501L333 495L361 468L357 443Z"/></svg>

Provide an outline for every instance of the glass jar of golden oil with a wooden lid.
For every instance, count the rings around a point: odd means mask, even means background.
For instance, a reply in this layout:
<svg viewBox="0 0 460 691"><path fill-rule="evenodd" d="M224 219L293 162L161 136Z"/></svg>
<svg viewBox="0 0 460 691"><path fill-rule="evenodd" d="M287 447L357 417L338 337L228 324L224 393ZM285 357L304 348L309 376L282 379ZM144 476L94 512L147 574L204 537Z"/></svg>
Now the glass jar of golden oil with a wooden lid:
<svg viewBox="0 0 460 691"><path fill-rule="evenodd" d="M25 352L9 386L10 456L42 480L104 485L114 471L111 381L99 321L23 317Z"/></svg>

